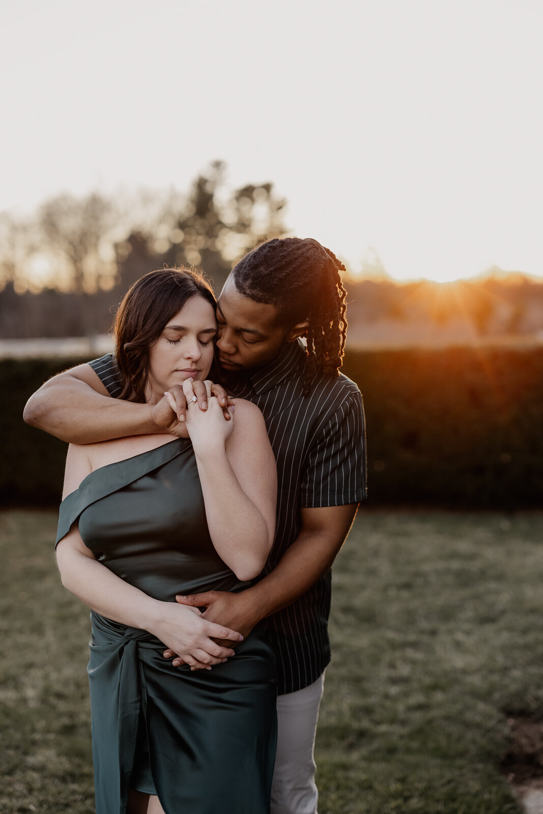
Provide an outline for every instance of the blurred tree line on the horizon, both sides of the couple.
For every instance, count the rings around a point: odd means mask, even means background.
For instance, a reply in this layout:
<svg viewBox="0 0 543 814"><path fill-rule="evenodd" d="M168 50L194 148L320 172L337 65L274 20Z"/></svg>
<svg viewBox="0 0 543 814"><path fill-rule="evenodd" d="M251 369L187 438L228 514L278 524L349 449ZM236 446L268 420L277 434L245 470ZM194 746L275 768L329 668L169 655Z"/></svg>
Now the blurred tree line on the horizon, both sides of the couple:
<svg viewBox="0 0 543 814"><path fill-rule="evenodd" d="M287 234L273 184L231 191L225 176L215 161L186 194L59 195L27 220L0 215L0 337L105 333L129 286L164 265L203 268L218 295L247 249ZM352 345L543 337L543 283L523 275L398 284L379 258L361 272L346 281Z"/></svg>

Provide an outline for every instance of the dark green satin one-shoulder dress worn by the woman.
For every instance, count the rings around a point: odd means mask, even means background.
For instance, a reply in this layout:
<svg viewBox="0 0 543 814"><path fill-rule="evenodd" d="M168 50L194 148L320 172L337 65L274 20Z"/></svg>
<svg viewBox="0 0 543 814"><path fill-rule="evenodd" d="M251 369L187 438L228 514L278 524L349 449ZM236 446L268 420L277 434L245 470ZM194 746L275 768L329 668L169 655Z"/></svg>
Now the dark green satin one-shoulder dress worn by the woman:
<svg viewBox="0 0 543 814"><path fill-rule="evenodd" d="M92 472L60 506L57 543L76 522L99 562L155 599L248 587L213 548L190 440ZM277 681L265 628L190 672L151 633L90 618L97 814L125 814L129 789L158 794L166 814L267 814Z"/></svg>

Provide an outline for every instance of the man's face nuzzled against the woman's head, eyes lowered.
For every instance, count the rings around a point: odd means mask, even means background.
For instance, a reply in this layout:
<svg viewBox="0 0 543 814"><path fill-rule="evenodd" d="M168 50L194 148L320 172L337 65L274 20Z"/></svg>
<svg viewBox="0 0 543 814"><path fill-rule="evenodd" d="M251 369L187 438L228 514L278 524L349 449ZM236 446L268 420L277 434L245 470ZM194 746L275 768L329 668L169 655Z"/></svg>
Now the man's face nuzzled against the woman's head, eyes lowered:
<svg viewBox="0 0 543 814"><path fill-rule="evenodd" d="M275 306L240 294L231 274L217 302L217 328L216 355L228 373L265 367L292 341Z"/></svg>

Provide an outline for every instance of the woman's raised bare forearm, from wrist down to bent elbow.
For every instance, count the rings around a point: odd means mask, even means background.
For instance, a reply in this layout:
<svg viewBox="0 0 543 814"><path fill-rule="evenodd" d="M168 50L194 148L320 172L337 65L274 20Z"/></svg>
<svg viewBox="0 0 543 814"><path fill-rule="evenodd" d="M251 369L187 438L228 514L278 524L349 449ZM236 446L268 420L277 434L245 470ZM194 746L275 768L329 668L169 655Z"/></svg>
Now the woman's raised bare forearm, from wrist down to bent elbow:
<svg viewBox="0 0 543 814"><path fill-rule="evenodd" d="M261 511L239 485L225 449L195 449L209 534L217 554L239 580L261 573L272 543Z"/></svg>

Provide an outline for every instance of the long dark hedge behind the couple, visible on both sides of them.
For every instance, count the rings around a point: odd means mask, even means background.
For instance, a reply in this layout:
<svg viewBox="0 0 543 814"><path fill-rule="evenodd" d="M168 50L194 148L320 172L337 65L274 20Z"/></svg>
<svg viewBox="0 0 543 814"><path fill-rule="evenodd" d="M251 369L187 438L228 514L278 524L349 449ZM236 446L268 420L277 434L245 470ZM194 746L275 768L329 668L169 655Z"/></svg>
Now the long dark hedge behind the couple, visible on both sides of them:
<svg viewBox="0 0 543 814"><path fill-rule="evenodd" d="M58 501L66 444L21 415L79 361L0 361L4 505ZM543 505L543 348L350 349L344 372L364 396L370 505Z"/></svg>

